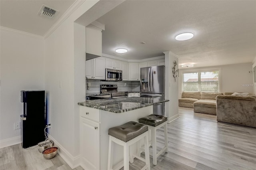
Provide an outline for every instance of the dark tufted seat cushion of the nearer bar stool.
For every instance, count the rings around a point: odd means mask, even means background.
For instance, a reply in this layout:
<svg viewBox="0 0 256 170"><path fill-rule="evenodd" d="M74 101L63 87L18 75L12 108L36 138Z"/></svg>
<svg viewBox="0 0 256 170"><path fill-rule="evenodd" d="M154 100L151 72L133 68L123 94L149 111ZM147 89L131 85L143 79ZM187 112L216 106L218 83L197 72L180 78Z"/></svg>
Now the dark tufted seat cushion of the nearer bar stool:
<svg viewBox="0 0 256 170"><path fill-rule="evenodd" d="M146 131L148 131L147 125L130 121L124 125L109 128L108 134L124 142L128 142Z"/></svg>

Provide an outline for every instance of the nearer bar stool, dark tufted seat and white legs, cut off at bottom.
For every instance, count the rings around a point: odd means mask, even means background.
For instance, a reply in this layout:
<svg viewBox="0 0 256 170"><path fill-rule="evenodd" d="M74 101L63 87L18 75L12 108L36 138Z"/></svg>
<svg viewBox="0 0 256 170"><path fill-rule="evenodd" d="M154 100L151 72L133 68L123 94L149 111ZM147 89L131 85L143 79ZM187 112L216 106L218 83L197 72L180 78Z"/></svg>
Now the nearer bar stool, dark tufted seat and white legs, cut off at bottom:
<svg viewBox="0 0 256 170"><path fill-rule="evenodd" d="M108 129L109 134L109 147L108 147L108 170L113 168L113 147L112 142L115 142L124 147L124 170L129 169L129 146L142 140L144 138L145 145L145 159L132 155L131 158L136 157L146 163L142 168L143 170L150 170L150 160L149 160L149 146L148 146L148 126L142 123L130 121L124 125L112 127ZM133 159L130 161L133 162Z"/></svg>

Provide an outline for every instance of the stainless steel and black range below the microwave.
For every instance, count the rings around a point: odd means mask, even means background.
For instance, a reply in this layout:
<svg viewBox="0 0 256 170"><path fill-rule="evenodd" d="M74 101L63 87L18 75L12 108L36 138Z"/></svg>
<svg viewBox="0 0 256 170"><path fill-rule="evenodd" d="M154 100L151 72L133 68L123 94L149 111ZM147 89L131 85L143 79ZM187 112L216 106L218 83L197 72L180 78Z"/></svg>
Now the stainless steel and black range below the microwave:
<svg viewBox="0 0 256 170"><path fill-rule="evenodd" d="M118 92L117 85L100 85L100 93L111 93L111 97L121 98L128 97L128 92Z"/></svg>

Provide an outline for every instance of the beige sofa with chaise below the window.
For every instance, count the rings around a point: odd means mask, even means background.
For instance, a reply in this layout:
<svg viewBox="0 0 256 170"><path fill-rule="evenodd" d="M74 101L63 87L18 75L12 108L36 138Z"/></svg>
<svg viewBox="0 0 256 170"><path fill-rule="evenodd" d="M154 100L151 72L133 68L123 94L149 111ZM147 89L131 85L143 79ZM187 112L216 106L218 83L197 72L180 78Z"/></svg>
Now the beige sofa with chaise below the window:
<svg viewBox="0 0 256 170"><path fill-rule="evenodd" d="M194 112L216 115L216 96L222 93L183 92L179 107L194 108Z"/></svg>

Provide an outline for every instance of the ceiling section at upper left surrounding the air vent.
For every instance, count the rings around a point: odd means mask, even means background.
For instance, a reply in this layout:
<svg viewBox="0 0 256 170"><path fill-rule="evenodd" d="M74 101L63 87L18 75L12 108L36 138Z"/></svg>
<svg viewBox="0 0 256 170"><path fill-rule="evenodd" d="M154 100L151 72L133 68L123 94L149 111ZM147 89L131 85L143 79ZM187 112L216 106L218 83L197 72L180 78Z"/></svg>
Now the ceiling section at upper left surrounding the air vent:
<svg viewBox="0 0 256 170"><path fill-rule="evenodd" d="M74 2L75 0L0 0L0 26L44 36ZM59 12L52 19L39 16L38 12L43 4Z"/></svg>

